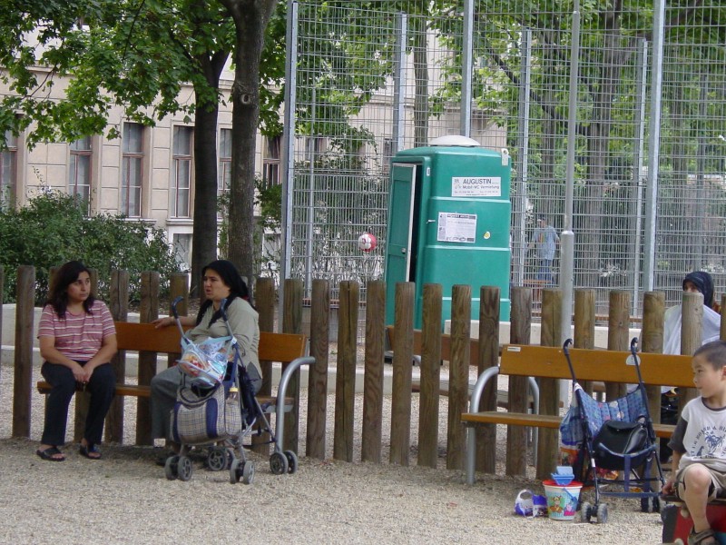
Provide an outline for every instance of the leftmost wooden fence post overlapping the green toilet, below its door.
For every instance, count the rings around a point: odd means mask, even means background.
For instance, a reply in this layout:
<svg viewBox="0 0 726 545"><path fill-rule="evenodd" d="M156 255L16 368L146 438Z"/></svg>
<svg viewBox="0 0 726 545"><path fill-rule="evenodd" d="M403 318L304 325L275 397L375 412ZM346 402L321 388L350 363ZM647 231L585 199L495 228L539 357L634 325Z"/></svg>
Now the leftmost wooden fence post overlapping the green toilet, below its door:
<svg viewBox="0 0 726 545"><path fill-rule="evenodd" d="M408 465L411 442L411 362L414 346L413 282L397 282L394 312L390 463Z"/></svg>

